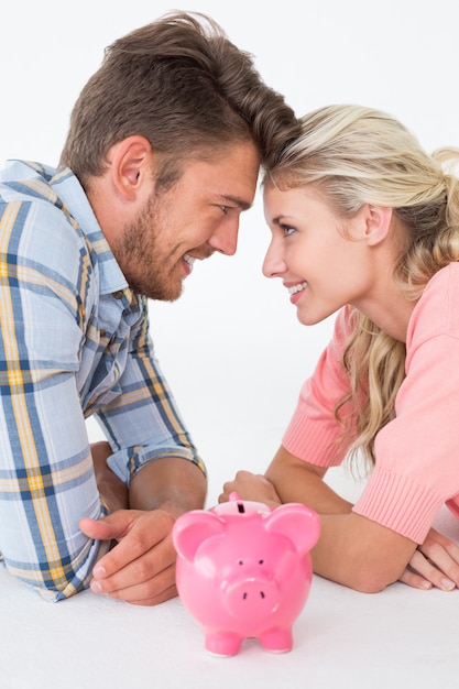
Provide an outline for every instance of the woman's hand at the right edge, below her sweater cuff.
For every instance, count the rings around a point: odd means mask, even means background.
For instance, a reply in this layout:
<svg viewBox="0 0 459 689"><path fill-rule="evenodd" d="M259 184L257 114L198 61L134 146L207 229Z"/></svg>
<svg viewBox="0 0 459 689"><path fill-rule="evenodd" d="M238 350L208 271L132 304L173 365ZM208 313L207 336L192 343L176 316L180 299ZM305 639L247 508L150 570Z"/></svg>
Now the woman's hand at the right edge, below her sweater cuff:
<svg viewBox="0 0 459 689"><path fill-rule="evenodd" d="M430 528L416 548L400 581L415 589L452 591L459 587L459 546Z"/></svg>

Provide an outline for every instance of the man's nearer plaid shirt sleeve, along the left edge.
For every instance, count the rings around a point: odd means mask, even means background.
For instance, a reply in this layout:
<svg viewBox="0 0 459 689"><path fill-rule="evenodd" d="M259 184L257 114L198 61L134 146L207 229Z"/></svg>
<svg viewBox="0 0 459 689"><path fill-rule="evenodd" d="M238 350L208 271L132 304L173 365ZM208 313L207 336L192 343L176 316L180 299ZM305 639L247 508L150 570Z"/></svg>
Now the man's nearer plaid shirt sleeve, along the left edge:
<svg viewBox="0 0 459 689"><path fill-rule="evenodd" d="M12 575L57 601L88 586L109 545L78 527L106 513L75 381L89 266L52 205L0 214L0 550Z"/></svg>

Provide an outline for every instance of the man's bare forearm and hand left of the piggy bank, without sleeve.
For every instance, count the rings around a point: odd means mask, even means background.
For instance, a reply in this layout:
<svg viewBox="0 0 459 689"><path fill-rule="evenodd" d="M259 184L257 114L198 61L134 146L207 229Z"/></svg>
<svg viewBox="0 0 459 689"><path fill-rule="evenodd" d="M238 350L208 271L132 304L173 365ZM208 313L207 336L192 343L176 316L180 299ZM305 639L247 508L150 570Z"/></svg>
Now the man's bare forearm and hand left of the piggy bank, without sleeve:
<svg viewBox="0 0 459 689"><path fill-rule="evenodd" d="M139 605L176 595L172 527L178 515L204 506L206 488L193 462L157 459L133 477L129 510L100 521L81 520L80 528L90 538L119 542L94 568L92 591Z"/></svg>

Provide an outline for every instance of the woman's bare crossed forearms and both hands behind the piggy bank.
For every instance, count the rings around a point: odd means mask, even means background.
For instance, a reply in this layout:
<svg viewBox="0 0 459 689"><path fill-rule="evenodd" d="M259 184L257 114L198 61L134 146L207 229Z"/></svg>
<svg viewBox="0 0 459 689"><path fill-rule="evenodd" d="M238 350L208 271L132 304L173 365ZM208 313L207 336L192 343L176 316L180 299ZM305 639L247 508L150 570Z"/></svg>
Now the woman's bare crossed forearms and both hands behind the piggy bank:
<svg viewBox="0 0 459 689"><path fill-rule="evenodd" d="M300 502L321 518L312 553L314 571L363 592L376 592L400 580L418 589L450 591L459 586L459 547L430 529L420 546L352 512L352 504L325 482L326 469L309 464L281 447L265 475L239 471L225 483L220 502L236 491L244 500L272 506Z"/></svg>

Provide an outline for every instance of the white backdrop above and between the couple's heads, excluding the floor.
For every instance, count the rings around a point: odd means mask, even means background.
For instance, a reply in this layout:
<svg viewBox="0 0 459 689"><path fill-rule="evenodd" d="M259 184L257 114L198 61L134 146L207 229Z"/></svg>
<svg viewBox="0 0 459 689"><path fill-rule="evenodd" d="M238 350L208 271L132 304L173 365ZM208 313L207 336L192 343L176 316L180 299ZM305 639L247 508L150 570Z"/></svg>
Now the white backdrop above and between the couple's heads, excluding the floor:
<svg viewBox="0 0 459 689"><path fill-rule="evenodd" d="M25 0L2 10L0 161L57 163L103 48L176 7L219 21L298 114L358 102L396 114L429 151L459 144L456 0ZM297 322L281 283L261 274L267 241L258 197L237 255L195 264L184 296L151 308L159 359L209 469L210 502L237 468L264 469L332 326Z"/></svg>

